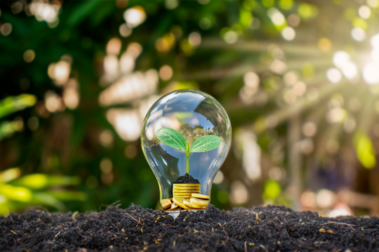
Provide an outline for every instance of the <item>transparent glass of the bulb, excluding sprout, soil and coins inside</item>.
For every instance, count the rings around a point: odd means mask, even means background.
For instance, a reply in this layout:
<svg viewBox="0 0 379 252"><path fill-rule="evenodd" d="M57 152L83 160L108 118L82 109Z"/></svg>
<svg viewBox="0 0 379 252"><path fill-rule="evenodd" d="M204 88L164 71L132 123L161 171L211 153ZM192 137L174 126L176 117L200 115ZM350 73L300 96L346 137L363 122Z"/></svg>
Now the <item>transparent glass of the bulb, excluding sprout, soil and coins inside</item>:
<svg viewBox="0 0 379 252"><path fill-rule="evenodd" d="M189 175L200 182L200 193L210 196L212 181L230 148L231 126L221 104L212 96L192 89L181 89L161 97L150 108L142 126L142 149L157 177L162 199L173 198L174 181L187 171L185 151L165 145L158 130L171 128L186 139L189 148L195 139L214 135L221 144L210 151L193 152L188 158ZM165 207L164 207L165 208Z"/></svg>

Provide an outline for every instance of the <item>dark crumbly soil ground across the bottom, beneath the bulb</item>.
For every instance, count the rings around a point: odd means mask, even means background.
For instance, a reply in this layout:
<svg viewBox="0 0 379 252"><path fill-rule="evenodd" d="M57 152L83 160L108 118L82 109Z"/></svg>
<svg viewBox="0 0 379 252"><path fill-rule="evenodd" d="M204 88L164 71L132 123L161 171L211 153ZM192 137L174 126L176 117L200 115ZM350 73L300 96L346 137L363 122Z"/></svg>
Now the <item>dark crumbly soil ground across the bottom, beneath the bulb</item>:
<svg viewBox="0 0 379 252"><path fill-rule="evenodd" d="M319 217L283 206L206 212L177 219L159 210L109 206L99 213L28 210L0 217L0 251L366 252L379 250L379 219Z"/></svg>

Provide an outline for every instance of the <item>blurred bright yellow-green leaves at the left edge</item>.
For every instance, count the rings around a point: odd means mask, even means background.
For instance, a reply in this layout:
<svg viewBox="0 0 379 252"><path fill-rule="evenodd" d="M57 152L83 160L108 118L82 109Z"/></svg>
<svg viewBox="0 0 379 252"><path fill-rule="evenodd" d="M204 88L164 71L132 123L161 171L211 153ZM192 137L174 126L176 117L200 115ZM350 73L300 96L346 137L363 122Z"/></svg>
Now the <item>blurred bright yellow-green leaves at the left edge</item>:
<svg viewBox="0 0 379 252"><path fill-rule="evenodd" d="M33 106L36 97L30 94L8 96L0 101L0 118ZM0 140L22 129L22 122L3 121L0 123ZM20 177L19 168L9 168L0 172L0 215L21 210L31 205L50 206L59 211L67 210L62 201L83 201L83 192L63 190L62 186L78 185L77 176L46 175L34 173Z"/></svg>

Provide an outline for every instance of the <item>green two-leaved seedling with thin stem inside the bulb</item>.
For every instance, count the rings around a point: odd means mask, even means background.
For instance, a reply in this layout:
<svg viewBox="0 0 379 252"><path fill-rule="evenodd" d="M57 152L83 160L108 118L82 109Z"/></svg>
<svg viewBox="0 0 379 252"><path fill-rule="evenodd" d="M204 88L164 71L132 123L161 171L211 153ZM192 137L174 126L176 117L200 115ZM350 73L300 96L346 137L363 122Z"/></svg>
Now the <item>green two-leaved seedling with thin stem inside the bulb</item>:
<svg viewBox="0 0 379 252"><path fill-rule="evenodd" d="M184 151L187 156L187 173L189 173L189 155L193 152L207 152L220 146L221 138L213 135L202 136L196 138L189 148L189 141L184 136L171 128L162 128L157 132L157 138L165 145L173 147L177 150Z"/></svg>

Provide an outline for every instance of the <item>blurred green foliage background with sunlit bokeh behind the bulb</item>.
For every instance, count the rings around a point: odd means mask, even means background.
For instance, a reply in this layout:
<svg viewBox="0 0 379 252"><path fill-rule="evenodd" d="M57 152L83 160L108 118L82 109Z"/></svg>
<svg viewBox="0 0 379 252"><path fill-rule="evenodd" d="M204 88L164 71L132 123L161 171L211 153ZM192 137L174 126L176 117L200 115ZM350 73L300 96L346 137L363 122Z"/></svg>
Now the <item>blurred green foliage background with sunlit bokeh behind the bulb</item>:
<svg viewBox="0 0 379 252"><path fill-rule="evenodd" d="M218 208L379 213L378 0L0 1L0 214L158 208L142 120L215 97Z"/></svg>

